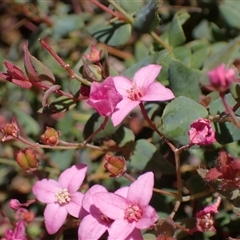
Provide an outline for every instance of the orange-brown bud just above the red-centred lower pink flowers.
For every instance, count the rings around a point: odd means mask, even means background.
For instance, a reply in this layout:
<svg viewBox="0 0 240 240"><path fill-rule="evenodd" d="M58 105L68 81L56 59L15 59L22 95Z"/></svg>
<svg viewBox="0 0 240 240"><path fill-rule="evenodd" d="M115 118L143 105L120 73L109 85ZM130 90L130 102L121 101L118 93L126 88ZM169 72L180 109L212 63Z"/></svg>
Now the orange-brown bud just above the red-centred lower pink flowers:
<svg viewBox="0 0 240 240"><path fill-rule="evenodd" d="M120 177L126 172L127 166L124 157L106 154L105 160L107 162L104 164L104 167L111 173L110 177Z"/></svg>

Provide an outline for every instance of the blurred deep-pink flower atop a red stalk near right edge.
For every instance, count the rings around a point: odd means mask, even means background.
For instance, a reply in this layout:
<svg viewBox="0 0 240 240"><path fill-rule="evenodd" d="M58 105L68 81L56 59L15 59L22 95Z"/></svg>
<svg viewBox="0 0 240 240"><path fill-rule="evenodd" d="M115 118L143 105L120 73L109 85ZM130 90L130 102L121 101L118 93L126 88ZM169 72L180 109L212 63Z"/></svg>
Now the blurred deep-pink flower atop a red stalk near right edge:
<svg viewBox="0 0 240 240"><path fill-rule="evenodd" d="M229 86L236 79L235 71L231 68L227 69L225 64L221 64L208 72L210 79L210 89L217 90L224 93L228 90Z"/></svg>

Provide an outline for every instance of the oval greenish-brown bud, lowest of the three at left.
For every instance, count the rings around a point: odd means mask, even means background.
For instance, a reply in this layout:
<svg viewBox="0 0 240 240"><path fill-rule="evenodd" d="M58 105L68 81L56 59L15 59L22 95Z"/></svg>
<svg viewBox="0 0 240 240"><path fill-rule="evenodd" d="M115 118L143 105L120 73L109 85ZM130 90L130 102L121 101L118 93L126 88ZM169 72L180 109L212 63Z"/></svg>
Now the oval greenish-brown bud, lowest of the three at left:
<svg viewBox="0 0 240 240"><path fill-rule="evenodd" d="M35 171L39 166L39 161L35 152L31 148L17 152L16 160L18 165L26 172Z"/></svg>

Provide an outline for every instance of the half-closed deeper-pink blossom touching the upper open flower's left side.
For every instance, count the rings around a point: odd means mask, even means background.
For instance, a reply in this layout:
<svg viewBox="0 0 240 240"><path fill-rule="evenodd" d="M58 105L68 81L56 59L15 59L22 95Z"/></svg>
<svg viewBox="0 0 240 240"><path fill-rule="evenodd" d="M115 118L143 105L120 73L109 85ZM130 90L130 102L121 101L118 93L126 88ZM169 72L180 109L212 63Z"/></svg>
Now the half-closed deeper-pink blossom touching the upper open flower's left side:
<svg viewBox="0 0 240 240"><path fill-rule="evenodd" d="M116 90L113 79L108 77L102 83L93 82L87 103L100 115L109 117L121 100L122 96Z"/></svg>

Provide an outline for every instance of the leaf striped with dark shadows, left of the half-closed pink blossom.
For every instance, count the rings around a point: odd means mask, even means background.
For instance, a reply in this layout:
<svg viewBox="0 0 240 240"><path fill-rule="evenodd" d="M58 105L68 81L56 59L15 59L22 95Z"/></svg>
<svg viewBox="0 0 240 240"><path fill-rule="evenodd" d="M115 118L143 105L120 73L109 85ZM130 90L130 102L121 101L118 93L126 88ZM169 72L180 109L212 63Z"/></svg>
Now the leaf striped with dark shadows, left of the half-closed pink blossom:
<svg viewBox="0 0 240 240"><path fill-rule="evenodd" d="M66 112L76 106L76 102L65 96L56 98L50 104L38 110L38 113L54 114L58 112Z"/></svg>

